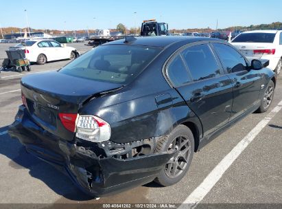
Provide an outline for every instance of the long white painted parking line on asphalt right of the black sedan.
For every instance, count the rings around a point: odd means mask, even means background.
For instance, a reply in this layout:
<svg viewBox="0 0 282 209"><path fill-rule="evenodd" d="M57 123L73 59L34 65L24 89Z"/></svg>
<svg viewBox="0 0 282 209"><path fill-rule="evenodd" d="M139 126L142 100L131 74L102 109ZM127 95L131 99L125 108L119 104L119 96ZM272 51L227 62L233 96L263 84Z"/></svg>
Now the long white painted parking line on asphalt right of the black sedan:
<svg viewBox="0 0 282 209"><path fill-rule="evenodd" d="M209 193L209 191L220 180L225 171L233 164L235 159L244 151L244 149L255 139L261 130L270 122L270 120L282 109L282 100L277 104L255 128L253 128L243 140L241 140L222 161L211 170L211 173L202 181L202 183L183 201L179 208L196 208L198 203ZM188 206L187 206L188 204Z"/></svg>

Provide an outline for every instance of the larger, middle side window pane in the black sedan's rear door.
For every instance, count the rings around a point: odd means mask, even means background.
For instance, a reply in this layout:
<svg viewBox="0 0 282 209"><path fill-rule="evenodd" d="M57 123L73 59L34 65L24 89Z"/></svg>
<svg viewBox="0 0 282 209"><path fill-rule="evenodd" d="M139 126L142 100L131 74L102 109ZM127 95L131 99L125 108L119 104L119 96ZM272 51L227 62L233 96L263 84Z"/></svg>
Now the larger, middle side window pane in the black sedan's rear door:
<svg viewBox="0 0 282 209"><path fill-rule="evenodd" d="M191 72L193 81L220 76L220 67L209 45L188 47L181 54Z"/></svg>

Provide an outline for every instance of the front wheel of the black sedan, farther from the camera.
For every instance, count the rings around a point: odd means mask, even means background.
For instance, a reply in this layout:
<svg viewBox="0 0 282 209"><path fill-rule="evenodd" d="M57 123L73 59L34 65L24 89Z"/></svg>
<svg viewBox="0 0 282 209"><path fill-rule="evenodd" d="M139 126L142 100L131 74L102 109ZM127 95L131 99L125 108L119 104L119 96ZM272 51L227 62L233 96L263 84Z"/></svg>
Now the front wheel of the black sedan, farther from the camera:
<svg viewBox="0 0 282 209"><path fill-rule="evenodd" d="M268 87L266 87L266 91L264 91L263 97L261 98L261 106L259 109L257 109L258 113L264 113L268 111L274 97L274 90L274 83L272 80L270 80Z"/></svg>

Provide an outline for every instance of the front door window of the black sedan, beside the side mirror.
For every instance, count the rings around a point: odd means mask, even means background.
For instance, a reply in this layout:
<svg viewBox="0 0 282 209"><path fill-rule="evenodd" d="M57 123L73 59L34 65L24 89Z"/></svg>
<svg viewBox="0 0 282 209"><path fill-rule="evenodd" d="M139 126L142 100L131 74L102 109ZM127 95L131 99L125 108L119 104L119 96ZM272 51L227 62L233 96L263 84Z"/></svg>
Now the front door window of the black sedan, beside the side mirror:
<svg viewBox="0 0 282 209"><path fill-rule="evenodd" d="M213 43L213 47L228 74L246 70L247 64L244 57L232 47L222 43Z"/></svg>

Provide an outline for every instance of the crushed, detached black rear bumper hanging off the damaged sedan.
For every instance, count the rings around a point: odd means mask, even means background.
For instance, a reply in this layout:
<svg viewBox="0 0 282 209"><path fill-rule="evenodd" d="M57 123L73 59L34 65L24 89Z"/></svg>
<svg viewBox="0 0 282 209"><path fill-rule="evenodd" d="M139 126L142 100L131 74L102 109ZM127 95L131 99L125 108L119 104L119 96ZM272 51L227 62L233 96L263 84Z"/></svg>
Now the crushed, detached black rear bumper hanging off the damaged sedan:
<svg viewBox="0 0 282 209"><path fill-rule="evenodd" d="M104 144L105 151L101 144L93 142L67 142L38 126L24 106L19 107L8 132L11 137L19 139L27 151L60 168L81 190L95 197L111 195L152 181L174 155L148 152L133 157L117 157L108 155L108 146ZM97 151L93 149L94 146Z"/></svg>

